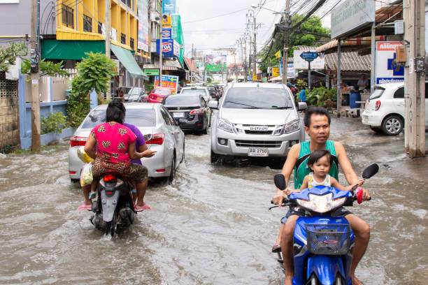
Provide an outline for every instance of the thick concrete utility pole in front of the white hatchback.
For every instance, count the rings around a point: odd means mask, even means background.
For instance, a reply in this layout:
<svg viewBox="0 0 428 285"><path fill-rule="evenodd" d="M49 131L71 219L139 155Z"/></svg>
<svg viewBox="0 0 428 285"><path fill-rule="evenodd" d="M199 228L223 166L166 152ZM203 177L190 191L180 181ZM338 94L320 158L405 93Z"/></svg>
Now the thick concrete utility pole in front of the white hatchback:
<svg viewBox="0 0 428 285"><path fill-rule="evenodd" d="M425 1L404 0L406 119L404 141L408 156L425 156Z"/></svg>

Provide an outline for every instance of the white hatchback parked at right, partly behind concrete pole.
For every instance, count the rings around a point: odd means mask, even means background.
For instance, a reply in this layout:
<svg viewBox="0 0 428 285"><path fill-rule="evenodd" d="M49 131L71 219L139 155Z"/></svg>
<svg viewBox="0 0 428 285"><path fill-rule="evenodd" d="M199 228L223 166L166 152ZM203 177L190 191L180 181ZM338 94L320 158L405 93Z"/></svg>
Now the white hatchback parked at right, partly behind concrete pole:
<svg viewBox="0 0 428 285"><path fill-rule="evenodd" d="M425 83L425 110L428 110L427 83ZM404 101L404 82L376 85L366 101L362 113L362 123L373 131L389 136L398 135L404 127L406 107ZM428 112L425 112L425 128L428 127Z"/></svg>

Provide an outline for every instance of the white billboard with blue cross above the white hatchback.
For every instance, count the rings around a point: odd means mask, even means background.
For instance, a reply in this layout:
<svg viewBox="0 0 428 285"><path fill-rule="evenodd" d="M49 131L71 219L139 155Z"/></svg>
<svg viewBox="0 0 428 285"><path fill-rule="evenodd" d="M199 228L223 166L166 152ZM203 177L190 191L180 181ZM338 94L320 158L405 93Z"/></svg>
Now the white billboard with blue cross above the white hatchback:
<svg viewBox="0 0 428 285"><path fill-rule="evenodd" d="M375 78L376 84L404 81L404 66L395 61L395 47L401 42L376 42Z"/></svg>

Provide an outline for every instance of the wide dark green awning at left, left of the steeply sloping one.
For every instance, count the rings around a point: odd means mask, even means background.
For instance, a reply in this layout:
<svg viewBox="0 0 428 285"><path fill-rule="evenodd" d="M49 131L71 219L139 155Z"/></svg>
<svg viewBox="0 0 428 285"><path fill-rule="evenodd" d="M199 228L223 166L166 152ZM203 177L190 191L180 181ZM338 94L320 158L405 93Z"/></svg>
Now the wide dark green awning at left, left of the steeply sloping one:
<svg viewBox="0 0 428 285"><path fill-rule="evenodd" d="M106 53L105 41L41 41L42 59L82 60L85 52Z"/></svg>

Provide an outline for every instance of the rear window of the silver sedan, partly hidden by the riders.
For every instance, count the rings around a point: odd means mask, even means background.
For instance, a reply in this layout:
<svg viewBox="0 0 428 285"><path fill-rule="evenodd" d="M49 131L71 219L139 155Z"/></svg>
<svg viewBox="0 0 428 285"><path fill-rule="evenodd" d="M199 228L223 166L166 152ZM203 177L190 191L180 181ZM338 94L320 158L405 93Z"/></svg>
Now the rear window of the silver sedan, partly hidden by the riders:
<svg viewBox="0 0 428 285"><path fill-rule="evenodd" d="M106 122L106 110L91 112L83 121L83 129L92 129ZM125 115L125 123L135 126L155 126L156 116L153 109L129 109Z"/></svg>

